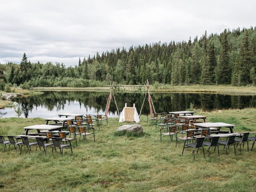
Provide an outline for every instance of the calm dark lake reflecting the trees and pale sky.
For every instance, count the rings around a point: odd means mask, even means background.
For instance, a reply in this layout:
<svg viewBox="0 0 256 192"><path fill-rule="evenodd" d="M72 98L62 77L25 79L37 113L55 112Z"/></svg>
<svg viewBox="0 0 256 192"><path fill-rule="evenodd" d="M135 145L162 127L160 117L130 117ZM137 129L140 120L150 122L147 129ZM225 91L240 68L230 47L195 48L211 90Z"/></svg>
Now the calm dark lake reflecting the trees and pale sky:
<svg viewBox="0 0 256 192"><path fill-rule="evenodd" d="M53 117L59 113L104 114L108 92L86 91L46 91L42 95L16 98L22 106L22 117ZM186 110L194 102L196 108L213 110L228 108L256 107L256 96L198 94L198 93L151 93L156 112ZM132 106L135 103L138 113L144 97L133 93L116 95L118 109L122 111L124 104ZM142 114L149 113L148 101L145 101ZM0 109L0 116L15 117L13 108ZM117 117L114 99L110 104L108 116Z"/></svg>

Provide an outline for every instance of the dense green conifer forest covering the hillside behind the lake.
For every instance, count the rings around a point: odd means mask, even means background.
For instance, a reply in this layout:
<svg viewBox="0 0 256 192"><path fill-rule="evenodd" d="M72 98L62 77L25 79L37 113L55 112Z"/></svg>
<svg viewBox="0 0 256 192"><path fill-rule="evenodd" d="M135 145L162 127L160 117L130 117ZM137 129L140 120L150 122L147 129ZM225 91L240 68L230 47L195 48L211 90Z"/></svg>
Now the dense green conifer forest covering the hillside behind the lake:
<svg viewBox="0 0 256 192"><path fill-rule="evenodd" d="M170 37L171 38L171 37ZM37 86L102 86L120 84L189 85L254 84L256 79L256 27L224 30L187 42L153 43L97 52L79 59L75 67L48 62L31 63L24 54L20 64L0 67L0 82Z"/></svg>

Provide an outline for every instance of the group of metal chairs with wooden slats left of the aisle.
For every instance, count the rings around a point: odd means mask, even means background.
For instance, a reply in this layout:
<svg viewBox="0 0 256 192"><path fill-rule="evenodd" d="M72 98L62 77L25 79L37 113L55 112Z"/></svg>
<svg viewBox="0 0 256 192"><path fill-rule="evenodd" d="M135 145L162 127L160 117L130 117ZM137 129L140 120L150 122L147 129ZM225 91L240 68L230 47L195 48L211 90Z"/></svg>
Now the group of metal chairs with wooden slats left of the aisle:
<svg viewBox="0 0 256 192"><path fill-rule="evenodd" d="M76 121L67 121L66 131L45 131L46 137L42 136L0 136L0 144L4 145L4 151L7 149L10 151L10 146L14 146L14 149L17 152L17 149L20 149L20 154L22 153L22 147L27 146L29 154L31 151L31 146L36 147L36 152L38 147L43 148L46 154L47 148L56 148L60 149L60 153L63 156L63 149L70 149L72 151L71 141L74 140L77 146L77 136L80 136L86 141L86 136L93 135L95 142L95 130L93 126L98 126L100 130L100 124L106 120L108 124L108 117L105 115L86 115L86 116L77 116ZM30 142L30 138L35 138L36 142ZM21 140L21 141L20 141Z"/></svg>

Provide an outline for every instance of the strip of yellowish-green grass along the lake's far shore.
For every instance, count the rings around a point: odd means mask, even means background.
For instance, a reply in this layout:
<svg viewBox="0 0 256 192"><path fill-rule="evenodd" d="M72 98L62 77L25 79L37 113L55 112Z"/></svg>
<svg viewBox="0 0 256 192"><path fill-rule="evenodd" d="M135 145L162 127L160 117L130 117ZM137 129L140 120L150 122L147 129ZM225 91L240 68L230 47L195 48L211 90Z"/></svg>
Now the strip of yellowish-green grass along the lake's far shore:
<svg viewBox="0 0 256 192"><path fill-rule="evenodd" d="M85 87L85 88L74 88L74 87L36 87L33 90L52 90L52 91L107 91L109 92L110 87ZM124 87L126 92L132 92L133 87ZM256 94L256 86L230 86L230 85L189 85L189 86L171 86L171 85L159 85L158 88L151 86L150 91L155 92L209 92L209 93L226 93L226 94Z"/></svg>

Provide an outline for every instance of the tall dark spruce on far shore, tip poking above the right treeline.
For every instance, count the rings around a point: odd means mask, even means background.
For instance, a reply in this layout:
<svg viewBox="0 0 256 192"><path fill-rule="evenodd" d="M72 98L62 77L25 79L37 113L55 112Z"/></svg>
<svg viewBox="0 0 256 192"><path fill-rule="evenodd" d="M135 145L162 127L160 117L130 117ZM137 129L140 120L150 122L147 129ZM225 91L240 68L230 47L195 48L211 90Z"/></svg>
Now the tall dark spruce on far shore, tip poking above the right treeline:
<svg viewBox="0 0 256 192"><path fill-rule="evenodd" d="M229 84L231 81L231 68L229 63L229 54L228 54L228 34L227 30L224 30L222 34L222 49L220 51L220 59L219 59L219 80L220 84Z"/></svg>

